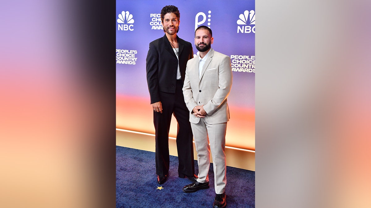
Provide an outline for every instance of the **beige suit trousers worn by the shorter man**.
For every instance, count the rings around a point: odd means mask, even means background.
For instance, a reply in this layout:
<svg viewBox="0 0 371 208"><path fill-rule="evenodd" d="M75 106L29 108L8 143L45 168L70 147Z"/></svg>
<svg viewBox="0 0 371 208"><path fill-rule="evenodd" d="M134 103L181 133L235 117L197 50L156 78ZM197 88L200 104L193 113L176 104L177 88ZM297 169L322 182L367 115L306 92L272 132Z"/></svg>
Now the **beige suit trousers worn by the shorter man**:
<svg viewBox="0 0 371 208"><path fill-rule="evenodd" d="M198 124L191 123L197 150L198 182L209 181L210 150L213 157L214 188L216 194L223 194L226 184L226 130L227 123L208 124L204 118ZM210 146L209 146L210 142Z"/></svg>

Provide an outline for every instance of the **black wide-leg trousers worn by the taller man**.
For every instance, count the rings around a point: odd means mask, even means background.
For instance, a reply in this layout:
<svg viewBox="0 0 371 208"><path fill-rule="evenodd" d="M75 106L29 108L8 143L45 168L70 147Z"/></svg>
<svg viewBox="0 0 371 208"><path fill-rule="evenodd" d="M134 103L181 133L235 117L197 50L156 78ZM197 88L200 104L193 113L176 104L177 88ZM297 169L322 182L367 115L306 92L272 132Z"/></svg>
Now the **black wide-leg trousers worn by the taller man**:
<svg viewBox="0 0 371 208"><path fill-rule="evenodd" d="M177 131L177 151L178 151L178 173L181 175L192 176L194 174L193 157L193 134L189 122L190 113L184 103L183 84L177 80L175 93L160 92L162 113L154 112L153 121L156 132L156 174L168 175L169 158L169 130L171 115L178 122Z"/></svg>

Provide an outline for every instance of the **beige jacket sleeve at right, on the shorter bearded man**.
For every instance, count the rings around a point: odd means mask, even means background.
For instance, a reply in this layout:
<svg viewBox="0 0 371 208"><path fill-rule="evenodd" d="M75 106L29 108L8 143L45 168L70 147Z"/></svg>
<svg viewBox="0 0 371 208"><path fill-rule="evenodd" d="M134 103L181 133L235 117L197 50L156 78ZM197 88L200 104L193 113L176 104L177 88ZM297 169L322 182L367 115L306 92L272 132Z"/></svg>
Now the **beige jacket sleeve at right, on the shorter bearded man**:
<svg viewBox="0 0 371 208"><path fill-rule="evenodd" d="M207 114L213 114L227 99L232 88L232 67L229 56L223 56L219 66L219 86L214 97L204 105Z"/></svg>

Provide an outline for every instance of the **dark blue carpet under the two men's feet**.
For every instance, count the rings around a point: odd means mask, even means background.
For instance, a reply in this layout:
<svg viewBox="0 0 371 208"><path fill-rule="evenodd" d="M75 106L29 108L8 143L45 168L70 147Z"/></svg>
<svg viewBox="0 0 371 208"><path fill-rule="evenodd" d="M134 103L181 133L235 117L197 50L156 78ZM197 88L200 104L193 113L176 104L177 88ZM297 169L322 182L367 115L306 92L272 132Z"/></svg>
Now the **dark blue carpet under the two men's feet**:
<svg viewBox="0 0 371 208"><path fill-rule="evenodd" d="M228 160L228 158L227 158ZM213 164L209 189L184 193L187 178L178 177L178 158L170 156L167 181L157 184L155 153L116 146L116 207L202 208L213 207L215 197ZM195 172L198 173L197 160ZM161 187L158 189L157 187ZM255 172L227 166L227 208L255 208Z"/></svg>

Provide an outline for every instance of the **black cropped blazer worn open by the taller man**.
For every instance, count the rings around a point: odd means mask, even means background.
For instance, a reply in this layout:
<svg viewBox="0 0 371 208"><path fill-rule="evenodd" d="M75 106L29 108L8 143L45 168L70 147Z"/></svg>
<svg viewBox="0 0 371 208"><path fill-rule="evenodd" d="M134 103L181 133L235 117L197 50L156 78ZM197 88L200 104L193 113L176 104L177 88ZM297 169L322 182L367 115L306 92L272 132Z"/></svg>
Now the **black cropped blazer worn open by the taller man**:
<svg viewBox="0 0 371 208"><path fill-rule="evenodd" d="M178 38L179 69L184 83L187 61L193 58L193 48L190 42ZM178 58L168 41L166 34L150 43L146 58L147 84L151 104L160 100L160 91L175 93L177 82Z"/></svg>

